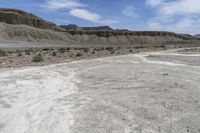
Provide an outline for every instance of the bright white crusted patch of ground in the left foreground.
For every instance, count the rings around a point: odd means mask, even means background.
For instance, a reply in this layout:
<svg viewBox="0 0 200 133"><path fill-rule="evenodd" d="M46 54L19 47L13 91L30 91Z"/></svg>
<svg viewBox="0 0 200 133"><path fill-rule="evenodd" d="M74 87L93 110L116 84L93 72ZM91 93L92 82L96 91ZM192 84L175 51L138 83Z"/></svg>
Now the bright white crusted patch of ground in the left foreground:
<svg viewBox="0 0 200 133"><path fill-rule="evenodd" d="M67 98L77 87L74 71L64 69L65 73L54 66L1 72L0 132L69 132L73 116Z"/></svg>

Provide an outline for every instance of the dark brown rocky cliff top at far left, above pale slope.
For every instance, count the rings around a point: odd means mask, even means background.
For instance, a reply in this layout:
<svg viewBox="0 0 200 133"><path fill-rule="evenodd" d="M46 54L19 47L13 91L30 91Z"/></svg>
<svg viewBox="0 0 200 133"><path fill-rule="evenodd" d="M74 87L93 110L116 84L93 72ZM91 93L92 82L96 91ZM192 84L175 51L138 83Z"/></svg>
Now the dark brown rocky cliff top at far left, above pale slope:
<svg viewBox="0 0 200 133"><path fill-rule="evenodd" d="M27 13L17 9L0 9L0 22L7 24L24 24L41 29L53 29L62 31L62 28L56 24L45 21L34 14Z"/></svg>

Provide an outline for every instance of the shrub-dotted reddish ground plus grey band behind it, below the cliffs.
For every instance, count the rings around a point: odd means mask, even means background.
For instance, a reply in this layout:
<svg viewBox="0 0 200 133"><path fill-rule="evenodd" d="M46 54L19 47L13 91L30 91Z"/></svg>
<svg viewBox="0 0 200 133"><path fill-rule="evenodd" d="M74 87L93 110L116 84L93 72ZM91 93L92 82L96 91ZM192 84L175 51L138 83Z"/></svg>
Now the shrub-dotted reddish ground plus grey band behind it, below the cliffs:
<svg viewBox="0 0 200 133"><path fill-rule="evenodd" d="M147 51L186 47L184 45L61 45L0 41L0 68L44 66L83 59L96 59ZM191 45L187 46L191 47ZM40 60L34 61L35 56Z"/></svg>

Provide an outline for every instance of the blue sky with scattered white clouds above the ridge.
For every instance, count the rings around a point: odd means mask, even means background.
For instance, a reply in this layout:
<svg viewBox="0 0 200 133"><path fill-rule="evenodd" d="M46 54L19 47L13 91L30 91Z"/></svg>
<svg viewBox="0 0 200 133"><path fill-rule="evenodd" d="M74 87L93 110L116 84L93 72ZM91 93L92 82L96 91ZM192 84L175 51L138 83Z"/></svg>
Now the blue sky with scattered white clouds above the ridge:
<svg viewBox="0 0 200 133"><path fill-rule="evenodd" d="M58 25L200 33L200 0L0 0Z"/></svg>

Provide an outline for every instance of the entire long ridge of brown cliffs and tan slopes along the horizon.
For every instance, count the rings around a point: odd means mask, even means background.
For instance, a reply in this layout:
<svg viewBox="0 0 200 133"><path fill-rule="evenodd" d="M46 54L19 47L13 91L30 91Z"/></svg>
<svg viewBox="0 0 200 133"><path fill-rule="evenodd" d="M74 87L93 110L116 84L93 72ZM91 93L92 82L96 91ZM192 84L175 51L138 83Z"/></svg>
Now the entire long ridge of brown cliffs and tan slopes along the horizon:
<svg viewBox="0 0 200 133"><path fill-rule="evenodd" d="M3 23L2 23L3 22ZM57 26L33 14L0 9L0 39L64 44L126 45L161 44L193 39L173 32L113 30L107 26Z"/></svg>

